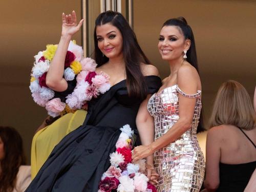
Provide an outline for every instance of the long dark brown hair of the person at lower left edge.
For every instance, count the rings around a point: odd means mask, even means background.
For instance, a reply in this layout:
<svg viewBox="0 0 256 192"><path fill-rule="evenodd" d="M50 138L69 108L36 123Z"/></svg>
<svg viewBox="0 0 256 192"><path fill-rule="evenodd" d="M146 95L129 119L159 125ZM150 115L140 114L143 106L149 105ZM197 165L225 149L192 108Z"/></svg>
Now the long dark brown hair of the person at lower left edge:
<svg viewBox="0 0 256 192"><path fill-rule="evenodd" d="M26 164L22 137L12 127L0 126L0 137L4 143L4 159L1 160L0 191L9 192L15 187L20 165Z"/></svg>

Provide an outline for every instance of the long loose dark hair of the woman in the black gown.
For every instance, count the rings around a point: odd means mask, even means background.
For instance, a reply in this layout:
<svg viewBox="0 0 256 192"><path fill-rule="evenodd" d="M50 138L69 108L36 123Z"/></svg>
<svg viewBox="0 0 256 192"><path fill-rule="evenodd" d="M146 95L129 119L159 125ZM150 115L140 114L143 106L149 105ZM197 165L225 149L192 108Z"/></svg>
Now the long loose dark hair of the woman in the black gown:
<svg viewBox="0 0 256 192"><path fill-rule="evenodd" d="M109 58L102 56L98 47L96 28L104 24L111 24L118 28L123 38L123 58L126 71L126 86L129 96L144 99L147 95L144 76L140 69L140 63L150 63L141 50L136 35L121 13L106 11L101 13L95 21L94 29L94 57L98 67L109 61Z"/></svg>

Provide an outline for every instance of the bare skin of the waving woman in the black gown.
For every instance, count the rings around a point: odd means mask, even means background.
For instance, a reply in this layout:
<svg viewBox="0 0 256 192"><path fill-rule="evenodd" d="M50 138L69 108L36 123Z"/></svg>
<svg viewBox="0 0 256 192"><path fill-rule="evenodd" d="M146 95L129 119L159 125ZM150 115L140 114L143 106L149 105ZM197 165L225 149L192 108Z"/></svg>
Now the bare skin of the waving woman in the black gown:
<svg viewBox="0 0 256 192"><path fill-rule="evenodd" d="M68 88L67 81L63 77L63 69L65 63L65 56L68 50L69 42L72 36L79 31L82 26L83 19L77 24L75 11L72 14L62 14L62 32L61 38L58 44L58 48L51 62L50 69L47 73L46 84L49 88L55 91L65 91ZM101 26L97 26L96 35L98 39L98 47L100 51L109 58L109 61L102 66L96 68L96 72L103 71L110 76L111 86L126 79L125 62L122 53L122 35L121 32L115 26L107 23ZM144 76L156 75L159 76L158 70L153 65L145 65L141 63L141 71ZM150 132L147 129L147 123L152 123L152 118L147 118L145 103L147 103L149 96L142 102L139 112L138 121L136 120L138 131L140 133L142 144L149 144L152 140L147 138L153 138L154 130ZM145 108L145 109L142 109ZM141 123L141 124L140 124ZM146 159L147 164L153 166L153 157ZM155 184L157 174L151 169L147 169L147 177Z"/></svg>

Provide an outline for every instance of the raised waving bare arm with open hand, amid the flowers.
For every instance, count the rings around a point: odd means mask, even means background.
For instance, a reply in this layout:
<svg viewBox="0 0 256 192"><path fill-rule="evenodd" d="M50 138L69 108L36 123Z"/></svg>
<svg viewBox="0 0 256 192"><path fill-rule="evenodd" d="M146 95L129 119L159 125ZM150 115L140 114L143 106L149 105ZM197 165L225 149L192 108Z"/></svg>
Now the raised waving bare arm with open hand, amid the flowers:
<svg viewBox="0 0 256 192"><path fill-rule="evenodd" d="M69 14L66 16L62 13L62 31L60 41L46 76L47 86L54 91L65 91L68 88L68 83L63 78L65 57L72 35L80 29L82 22L83 19L80 20L78 25L76 24L75 11L72 12L72 15Z"/></svg>

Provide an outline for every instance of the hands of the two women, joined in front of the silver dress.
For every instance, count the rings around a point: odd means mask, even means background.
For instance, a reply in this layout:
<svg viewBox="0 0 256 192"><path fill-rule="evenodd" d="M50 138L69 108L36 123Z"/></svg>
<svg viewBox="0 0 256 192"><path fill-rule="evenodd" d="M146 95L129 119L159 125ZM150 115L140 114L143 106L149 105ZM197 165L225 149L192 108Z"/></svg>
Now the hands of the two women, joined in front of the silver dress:
<svg viewBox="0 0 256 192"><path fill-rule="evenodd" d="M150 145L140 145L136 146L132 153L133 161L138 161L140 159L146 158L151 156L154 153L152 147ZM146 175L147 178L150 180L150 183L156 185L158 183L159 175L156 173L154 165L146 164Z"/></svg>

